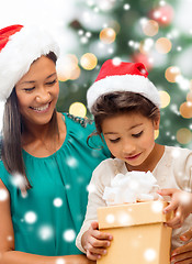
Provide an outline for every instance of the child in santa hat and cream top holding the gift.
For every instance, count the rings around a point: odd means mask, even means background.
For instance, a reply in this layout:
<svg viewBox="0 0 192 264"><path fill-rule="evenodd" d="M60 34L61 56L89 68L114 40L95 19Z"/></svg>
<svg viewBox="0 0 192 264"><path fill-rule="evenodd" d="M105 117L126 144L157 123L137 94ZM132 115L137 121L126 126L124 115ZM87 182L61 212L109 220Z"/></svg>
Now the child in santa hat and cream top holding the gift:
<svg viewBox="0 0 192 264"><path fill-rule="evenodd" d="M103 161L93 172L87 215L77 238L77 246L90 260L106 253L112 237L98 231L97 208L106 206L103 191L117 173L150 170L157 179L161 195L172 196L165 211L174 210L176 217L167 222L173 231L172 248L181 246L178 234L185 231L192 221L191 168L192 152L155 142L159 129L160 100L158 90L147 78L143 64L113 64L106 61L88 90L88 107L94 116L97 134L103 136L113 158ZM187 198L184 204L181 198ZM188 217L185 222L183 220ZM188 251L185 249L185 251ZM176 253L176 252L174 252ZM189 258L191 253L179 257ZM176 257L176 255L174 255ZM192 260L192 258L191 258Z"/></svg>

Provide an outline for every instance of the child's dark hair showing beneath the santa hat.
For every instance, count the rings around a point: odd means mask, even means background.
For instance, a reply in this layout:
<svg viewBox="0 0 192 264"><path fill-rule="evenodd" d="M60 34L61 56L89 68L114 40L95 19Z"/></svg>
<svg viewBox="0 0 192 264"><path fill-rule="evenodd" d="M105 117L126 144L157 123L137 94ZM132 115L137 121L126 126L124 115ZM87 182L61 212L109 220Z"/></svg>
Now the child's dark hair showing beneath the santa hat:
<svg viewBox="0 0 192 264"><path fill-rule="evenodd" d="M99 134L102 139L102 122L106 118L122 113L137 112L155 121L159 118L159 108L140 94L131 91L115 91L100 96L91 108L94 116L97 131L92 135Z"/></svg>

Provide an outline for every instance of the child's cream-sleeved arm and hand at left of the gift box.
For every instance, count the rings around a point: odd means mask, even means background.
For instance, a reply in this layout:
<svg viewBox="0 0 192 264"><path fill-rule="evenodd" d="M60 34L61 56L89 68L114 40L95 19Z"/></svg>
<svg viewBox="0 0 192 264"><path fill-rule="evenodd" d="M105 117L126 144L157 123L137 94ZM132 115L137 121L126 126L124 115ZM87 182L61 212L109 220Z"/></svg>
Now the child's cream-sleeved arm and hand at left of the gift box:
<svg viewBox="0 0 192 264"><path fill-rule="evenodd" d="M106 254L111 244L112 235L99 231L97 209L105 207L103 191L105 186L110 186L113 177L114 164L112 160L105 160L94 169L89 185L88 206L84 221L77 237L77 248L87 254L89 260L95 261ZM113 165L113 166L112 166Z"/></svg>

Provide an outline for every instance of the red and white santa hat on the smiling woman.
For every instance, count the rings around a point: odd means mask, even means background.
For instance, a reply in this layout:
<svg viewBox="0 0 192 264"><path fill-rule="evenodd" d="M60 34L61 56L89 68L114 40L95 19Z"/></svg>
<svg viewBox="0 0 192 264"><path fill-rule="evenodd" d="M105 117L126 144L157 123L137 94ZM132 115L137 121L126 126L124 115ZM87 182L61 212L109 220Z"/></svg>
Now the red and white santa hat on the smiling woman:
<svg viewBox="0 0 192 264"><path fill-rule="evenodd" d="M41 26L15 24L0 30L0 101L9 98L31 64L49 52L58 56L58 45Z"/></svg>

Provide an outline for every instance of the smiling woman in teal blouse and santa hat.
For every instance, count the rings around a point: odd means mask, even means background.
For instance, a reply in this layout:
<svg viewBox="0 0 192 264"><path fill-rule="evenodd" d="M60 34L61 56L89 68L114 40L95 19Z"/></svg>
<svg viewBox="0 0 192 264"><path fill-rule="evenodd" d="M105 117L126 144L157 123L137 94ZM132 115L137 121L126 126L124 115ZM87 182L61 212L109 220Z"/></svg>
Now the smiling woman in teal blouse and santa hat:
<svg viewBox="0 0 192 264"><path fill-rule="evenodd" d="M41 29L0 31L1 263L91 263L77 255L75 237L91 172L110 153L88 146L93 124L56 111L57 56L57 44Z"/></svg>

